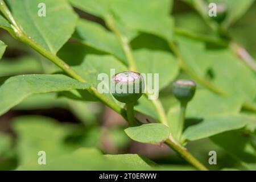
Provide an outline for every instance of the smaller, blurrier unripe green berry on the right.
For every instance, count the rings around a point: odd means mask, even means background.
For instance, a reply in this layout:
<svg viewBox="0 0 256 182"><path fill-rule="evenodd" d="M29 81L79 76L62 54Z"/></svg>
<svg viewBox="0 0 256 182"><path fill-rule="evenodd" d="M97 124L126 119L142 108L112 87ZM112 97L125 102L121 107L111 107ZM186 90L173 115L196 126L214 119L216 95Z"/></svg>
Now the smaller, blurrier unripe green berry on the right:
<svg viewBox="0 0 256 182"><path fill-rule="evenodd" d="M187 104L192 100L195 91L196 83L191 80L177 80L172 84L172 92L181 104Z"/></svg>

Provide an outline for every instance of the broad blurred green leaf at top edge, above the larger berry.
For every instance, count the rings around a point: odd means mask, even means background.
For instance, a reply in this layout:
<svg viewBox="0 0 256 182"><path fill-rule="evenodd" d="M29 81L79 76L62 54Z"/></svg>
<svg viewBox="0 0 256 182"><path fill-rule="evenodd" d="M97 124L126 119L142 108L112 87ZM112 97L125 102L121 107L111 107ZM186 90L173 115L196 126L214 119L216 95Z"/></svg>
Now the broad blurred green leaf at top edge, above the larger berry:
<svg viewBox="0 0 256 182"><path fill-rule="evenodd" d="M169 7L168 1L163 3L163 1L125 0L113 3L112 9L131 30L154 34L170 42L173 39L174 20L166 10Z"/></svg>

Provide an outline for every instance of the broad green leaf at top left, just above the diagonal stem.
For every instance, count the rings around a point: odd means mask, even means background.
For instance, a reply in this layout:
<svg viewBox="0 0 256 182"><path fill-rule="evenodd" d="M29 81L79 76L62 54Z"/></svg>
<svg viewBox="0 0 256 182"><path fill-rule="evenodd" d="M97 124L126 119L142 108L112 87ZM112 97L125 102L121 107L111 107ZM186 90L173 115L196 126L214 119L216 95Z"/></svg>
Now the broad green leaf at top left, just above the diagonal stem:
<svg viewBox="0 0 256 182"><path fill-rule="evenodd" d="M8 0L16 22L36 43L54 54L75 31L77 15L65 0ZM38 5L46 5L46 16L38 15Z"/></svg>

